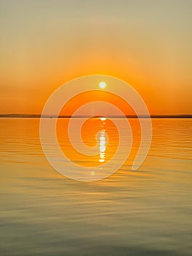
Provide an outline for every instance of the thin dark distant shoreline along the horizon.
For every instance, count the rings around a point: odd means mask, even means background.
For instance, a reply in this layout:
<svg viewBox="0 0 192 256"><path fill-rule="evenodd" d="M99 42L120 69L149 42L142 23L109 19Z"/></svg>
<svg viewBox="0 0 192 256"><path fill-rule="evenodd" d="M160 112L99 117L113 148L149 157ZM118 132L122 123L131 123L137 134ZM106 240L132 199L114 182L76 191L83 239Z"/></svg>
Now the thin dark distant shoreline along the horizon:
<svg viewBox="0 0 192 256"><path fill-rule="evenodd" d="M94 116L99 118L101 116ZM105 116L106 118L192 118L191 115L151 115L149 116ZM0 114L0 118L57 118L57 116L41 116L36 114ZM88 116L58 116L58 118L88 118Z"/></svg>

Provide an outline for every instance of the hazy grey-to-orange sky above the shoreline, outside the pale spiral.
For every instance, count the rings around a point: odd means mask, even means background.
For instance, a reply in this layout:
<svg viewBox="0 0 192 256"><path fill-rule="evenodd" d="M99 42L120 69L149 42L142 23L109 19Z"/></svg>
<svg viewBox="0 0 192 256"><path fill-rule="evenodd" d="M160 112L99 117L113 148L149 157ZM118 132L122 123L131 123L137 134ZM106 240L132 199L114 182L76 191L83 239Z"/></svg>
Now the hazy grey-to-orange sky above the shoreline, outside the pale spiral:
<svg viewBox="0 0 192 256"><path fill-rule="evenodd" d="M191 0L1 0L0 29L0 113L40 114L94 74L125 80L151 114L192 113Z"/></svg>

